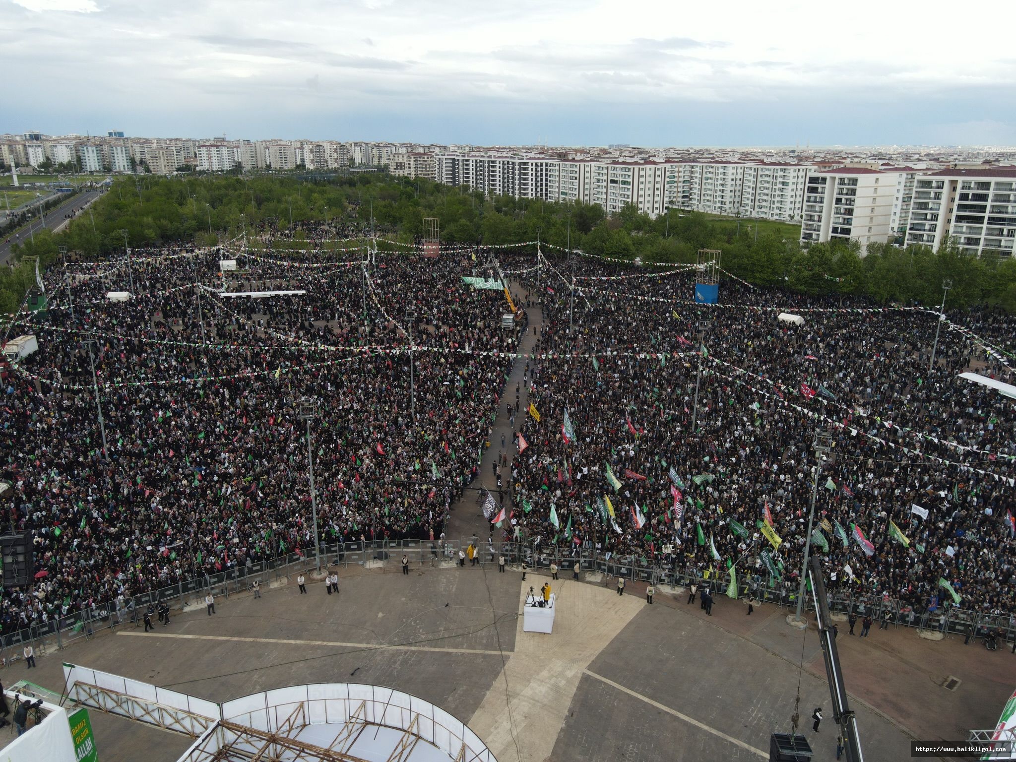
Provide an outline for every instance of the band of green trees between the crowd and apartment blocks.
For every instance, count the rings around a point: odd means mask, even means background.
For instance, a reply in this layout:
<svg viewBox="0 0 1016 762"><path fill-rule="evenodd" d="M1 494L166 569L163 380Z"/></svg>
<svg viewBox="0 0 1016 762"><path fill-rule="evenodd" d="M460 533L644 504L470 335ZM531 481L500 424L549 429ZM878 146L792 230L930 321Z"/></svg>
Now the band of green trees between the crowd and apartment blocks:
<svg viewBox="0 0 1016 762"><path fill-rule="evenodd" d="M862 296L876 304L938 306L942 282L952 281L947 307L1000 307L1016 312L1016 259L974 257L954 245L870 244L862 257L855 242L828 242L801 249L797 238L747 235L729 220L672 209L650 218L634 206L607 215L581 202L553 203L486 196L422 178L384 174L329 178L308 176L201 176L121 178L92 207L93 218L74 220L66 232L43 233L17 247L16 256L38 255L42 264L59 247L84 259L121 256L123 231L131 248L173 243L213 245L258 226L297 229L328 220L412 242L425 217L437 217L441 240L456 244L541 241L599 256L642 262L695 262L699 249L719 249L723 269L759 285L782 285L810 295ZM747 228L752 220L742 220ZM761 229L760 229L761 230ZM33 269L34 275L34 269ZM34 279L34 278L33 278ZM0 274L0 311L11 312L24 296L24 273Z"/></svg>

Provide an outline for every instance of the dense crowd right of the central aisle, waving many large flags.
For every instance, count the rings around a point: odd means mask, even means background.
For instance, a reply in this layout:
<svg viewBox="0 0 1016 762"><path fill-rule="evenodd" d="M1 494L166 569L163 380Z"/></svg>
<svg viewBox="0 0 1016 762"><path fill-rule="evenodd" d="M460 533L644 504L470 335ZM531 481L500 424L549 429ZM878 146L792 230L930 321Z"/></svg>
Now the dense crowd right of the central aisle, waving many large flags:
<svg viewBox="0 0 1016 762"><path fill-rule="evenodd" d="M561 262L521 275L545 295L530 369L539 422L519 429L507 536L702 574L729 560L742 580L796 591L821 430L831 450L812 547L833 587L922 609L952 598L944 579L961 608L1013 611L1016 411L957 378L1016 381L1011 316L953 316L929 370L934 310L729 278L705 307L690 300L689 272L632 277L588 261L578 272L574 298Z"/></svg>

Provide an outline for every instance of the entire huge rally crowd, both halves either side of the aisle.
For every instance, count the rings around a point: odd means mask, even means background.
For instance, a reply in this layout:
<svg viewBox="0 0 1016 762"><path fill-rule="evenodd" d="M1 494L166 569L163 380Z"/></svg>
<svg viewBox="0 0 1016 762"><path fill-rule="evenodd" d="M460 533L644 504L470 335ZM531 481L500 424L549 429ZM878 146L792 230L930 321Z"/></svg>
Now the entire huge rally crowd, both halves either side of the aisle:
<svg viewBox="0 0 1016 762"><path fill-rule="evenodd" d="M305 233L46 274L48 312L8 326L39 342L3 381L0 474L38 573L3 597L4 633L313 548L308 420L321 542L439 537L516 362L538 421L512 419L506 539L703 574L729 559L796 588L824 431L812 547L834 588L918 607L950 596L941 579L962 608L1016 602L1016 418L956 377L1013 381L1011 317L950 315L932 364L934 311L733 278L703 306L687 270L528 248L494 253L543 321L505 329L502 293L461 279L471 252L320 251L362 227ZM282 291L303 293L228 296ZM516 359L520 330L536 348Z"/></svg>

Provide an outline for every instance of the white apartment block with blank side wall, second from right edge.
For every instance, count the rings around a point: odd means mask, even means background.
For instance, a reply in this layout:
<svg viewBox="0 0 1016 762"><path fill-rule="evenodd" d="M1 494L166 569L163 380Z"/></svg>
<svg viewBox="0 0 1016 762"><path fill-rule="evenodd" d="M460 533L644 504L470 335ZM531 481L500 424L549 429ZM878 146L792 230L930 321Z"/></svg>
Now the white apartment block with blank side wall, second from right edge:
<svg viewBox="0 0 1016 762"><path fill-rule="evenodd" d="M801 243L853 239L864 253L873 241L888 242L894 237L892 211L901 175L865 167L809 174Z"/></svg>

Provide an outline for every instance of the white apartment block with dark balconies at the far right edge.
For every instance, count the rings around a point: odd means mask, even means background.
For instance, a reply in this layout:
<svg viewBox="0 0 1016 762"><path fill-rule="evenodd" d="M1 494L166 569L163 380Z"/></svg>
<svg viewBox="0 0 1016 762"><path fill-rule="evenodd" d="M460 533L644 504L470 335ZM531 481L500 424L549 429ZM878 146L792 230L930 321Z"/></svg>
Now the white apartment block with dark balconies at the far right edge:
<svg viewBox="0 0 1016 762"><path fill-rule="evenodd" d="M947 238L978 256L1016 253L1016 167L939 170L916 179L906 243L938 249Z"/></svg>

